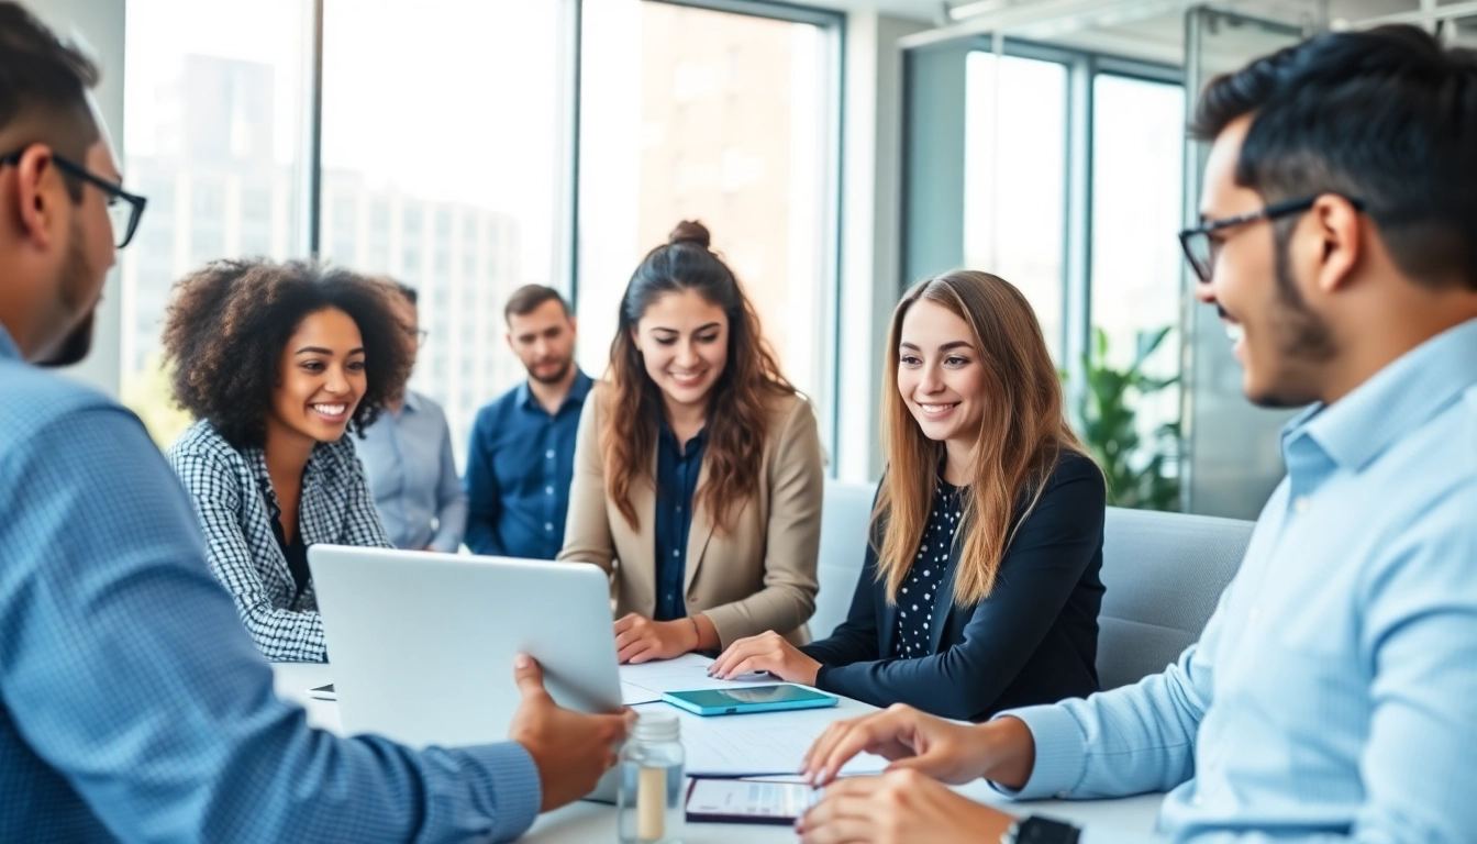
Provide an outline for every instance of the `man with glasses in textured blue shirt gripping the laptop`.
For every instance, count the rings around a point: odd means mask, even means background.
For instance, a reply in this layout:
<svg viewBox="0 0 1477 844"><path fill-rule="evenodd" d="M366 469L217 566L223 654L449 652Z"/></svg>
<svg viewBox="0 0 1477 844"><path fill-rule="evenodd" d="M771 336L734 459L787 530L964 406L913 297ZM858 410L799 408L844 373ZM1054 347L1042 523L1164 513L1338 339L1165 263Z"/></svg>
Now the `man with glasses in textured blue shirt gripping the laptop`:
<svg viewBox="0 0 1477 844"><path fill-rule="evenodd" d="M560 709L520 658L513 742L415 752L310 729L137 417L27 364L86 350L143 208L96 78L0 1L0 841L520 835L595 785L625 718Z"/></svg>

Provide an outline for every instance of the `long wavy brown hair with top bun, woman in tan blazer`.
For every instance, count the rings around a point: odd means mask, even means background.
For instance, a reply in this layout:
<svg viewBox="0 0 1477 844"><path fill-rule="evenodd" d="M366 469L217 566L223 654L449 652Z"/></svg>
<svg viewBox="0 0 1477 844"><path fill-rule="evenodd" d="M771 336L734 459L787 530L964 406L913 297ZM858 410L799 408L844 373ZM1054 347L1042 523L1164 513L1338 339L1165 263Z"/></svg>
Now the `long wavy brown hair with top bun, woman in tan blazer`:
<svg viewBox="0 0 1477 844"><path fill-rule="evenodd" d="M774 353L759 333L759 315L728 265L709 251L707 229L681 222L668 242L647 253L620 299L620 319L610 344L610 390L600 446L606 463L606 491L632 529L638 529L632 483L656 483L651 460L662 390L645 372L632 334L647 307L669 293L696 291L728 316L728 364L707 398L707 446L703 463L707 483L694 507L706 508L722 535L731 517L759 485L759 461L774 399L795 395Z"/></svg>

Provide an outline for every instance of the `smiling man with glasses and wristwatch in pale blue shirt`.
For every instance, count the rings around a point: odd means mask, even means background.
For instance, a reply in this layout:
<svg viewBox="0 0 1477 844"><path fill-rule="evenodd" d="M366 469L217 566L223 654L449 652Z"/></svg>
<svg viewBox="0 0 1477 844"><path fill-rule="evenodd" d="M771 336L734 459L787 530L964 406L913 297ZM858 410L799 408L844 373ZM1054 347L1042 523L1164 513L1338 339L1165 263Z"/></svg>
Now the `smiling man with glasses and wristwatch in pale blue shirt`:
<svg viewBox="0 0 1477 844"><path fill-rule="evenodd" d="M895 708L805 841L1077 841L1006 794L1170 791L1176 841L1470 841L1477 831L1477 53L1409 27L1319 35L1217 78L1202 225L1180 234L1247 396L1312 406L1196 644L1162 674L956 726ZM1083 841L1114 840L1089 828Z"/></svg>

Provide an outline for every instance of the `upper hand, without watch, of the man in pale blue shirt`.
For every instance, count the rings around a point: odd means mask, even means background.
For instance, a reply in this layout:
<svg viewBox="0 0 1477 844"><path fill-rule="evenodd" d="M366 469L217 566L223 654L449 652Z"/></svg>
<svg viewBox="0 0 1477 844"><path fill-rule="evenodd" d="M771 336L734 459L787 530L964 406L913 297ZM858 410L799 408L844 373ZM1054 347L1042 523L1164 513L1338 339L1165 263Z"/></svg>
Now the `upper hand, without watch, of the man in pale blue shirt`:
<svg viewBox="0 0 1477 844"><path fill-rule="evenodd" d="M889 770L917 770L954 785L987 777L1021 788L1035 767L1035 739L1019 718L957 724L894 704L827 727L805 754L801 773L812 785L827 785L860 752L886 758Z"/></svg>

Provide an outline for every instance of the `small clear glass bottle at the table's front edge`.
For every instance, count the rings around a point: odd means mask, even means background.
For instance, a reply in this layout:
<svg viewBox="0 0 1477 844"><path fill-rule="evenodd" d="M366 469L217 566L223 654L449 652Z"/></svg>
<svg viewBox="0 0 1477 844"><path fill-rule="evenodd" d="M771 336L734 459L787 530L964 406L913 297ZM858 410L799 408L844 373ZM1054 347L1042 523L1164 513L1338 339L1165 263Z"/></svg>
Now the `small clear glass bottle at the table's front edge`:
<svg viewBox="0 0 1477 844"><path fill-rule="evenodd" d="M641 712L620 748L616 825L620 844L679 844L682 806L681 721L672 712Z"/></svg>

